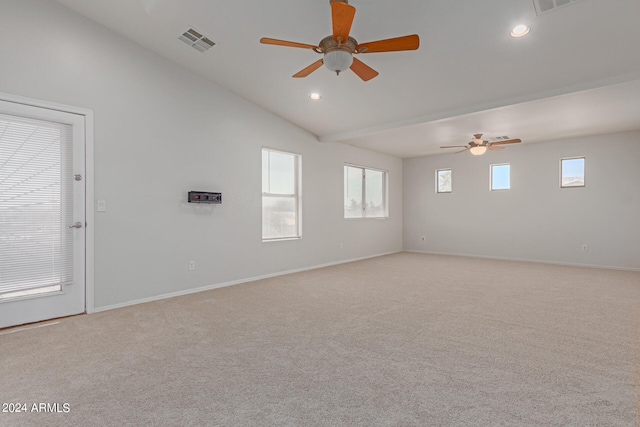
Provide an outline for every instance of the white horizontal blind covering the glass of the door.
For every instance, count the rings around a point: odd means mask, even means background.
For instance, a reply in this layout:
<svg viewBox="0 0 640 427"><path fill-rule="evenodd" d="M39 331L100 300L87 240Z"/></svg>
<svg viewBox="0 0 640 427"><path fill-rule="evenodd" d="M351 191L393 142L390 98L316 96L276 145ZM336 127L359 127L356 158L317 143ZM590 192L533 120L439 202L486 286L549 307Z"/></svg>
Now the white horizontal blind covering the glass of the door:
<svg viewBox="0 0 640 427"><path fill-rule="evenodd" d="M0 114L0 299L73 280L71 126Z"/></svg>

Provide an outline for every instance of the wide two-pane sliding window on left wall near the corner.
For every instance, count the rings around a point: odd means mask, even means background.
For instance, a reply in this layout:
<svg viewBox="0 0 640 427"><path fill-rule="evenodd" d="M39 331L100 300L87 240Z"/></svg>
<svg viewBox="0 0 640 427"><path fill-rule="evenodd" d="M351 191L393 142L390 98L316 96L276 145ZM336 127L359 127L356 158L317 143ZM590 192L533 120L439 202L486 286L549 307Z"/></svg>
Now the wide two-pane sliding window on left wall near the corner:
<svg viewBox="0 0 640 427"><path fill-rule="evenodd" d="M344 217L387 217L387 172L344 166Z"/></svg>

